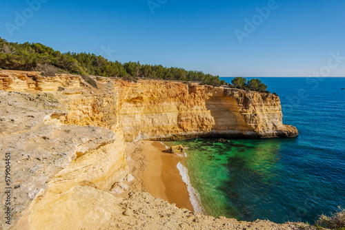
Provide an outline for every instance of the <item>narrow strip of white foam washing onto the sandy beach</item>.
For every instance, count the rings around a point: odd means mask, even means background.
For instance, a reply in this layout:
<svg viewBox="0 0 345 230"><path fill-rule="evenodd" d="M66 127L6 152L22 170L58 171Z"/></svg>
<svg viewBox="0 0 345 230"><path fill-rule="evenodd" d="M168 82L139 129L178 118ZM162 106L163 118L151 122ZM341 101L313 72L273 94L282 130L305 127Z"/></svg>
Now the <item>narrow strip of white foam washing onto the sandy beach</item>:
<svg viewBox="0 0 345 230"><path fill-rule="evenodd" d="M204 213L204 209L201 207L199 194L197 193L192 183L190 182L187 167L182 165L181 162L179 162L176 167L177 169L179 169L179 174L181 175L182 180L187 185L189 199L193 205L194 211L199 212L199 213Z"/></svg>

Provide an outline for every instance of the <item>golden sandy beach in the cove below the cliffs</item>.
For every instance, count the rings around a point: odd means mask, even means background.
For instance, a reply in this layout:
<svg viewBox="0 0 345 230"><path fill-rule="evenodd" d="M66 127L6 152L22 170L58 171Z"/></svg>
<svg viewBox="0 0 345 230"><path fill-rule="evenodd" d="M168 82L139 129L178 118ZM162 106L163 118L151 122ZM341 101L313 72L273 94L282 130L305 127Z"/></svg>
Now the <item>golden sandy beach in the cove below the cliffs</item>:
<svg viewBox="0 0 345 230"><path fill-rule="evenodd" d="M165 145L150 140L127 143L128 165L135 177L130 187L133 191L147 191L155 198L193 211L186 184L176 167L181 156L168 154L164 150Z"/></svg>

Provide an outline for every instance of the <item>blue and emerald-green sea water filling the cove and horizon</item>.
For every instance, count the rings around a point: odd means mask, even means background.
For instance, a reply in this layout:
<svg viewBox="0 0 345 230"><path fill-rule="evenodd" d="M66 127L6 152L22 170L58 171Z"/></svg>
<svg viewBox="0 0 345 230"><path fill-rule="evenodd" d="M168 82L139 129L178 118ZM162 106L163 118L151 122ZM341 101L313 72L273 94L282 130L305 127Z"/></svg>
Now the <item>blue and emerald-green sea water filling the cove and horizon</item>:
<svg viewBox="0 0 345 230"><path fill-rule="evenodd" d="M314 222L345 207L345 78L259 78L297 138L193 139L184 165L204 211L237 220ZM224 79L230 82L229 79Z"/></svg>

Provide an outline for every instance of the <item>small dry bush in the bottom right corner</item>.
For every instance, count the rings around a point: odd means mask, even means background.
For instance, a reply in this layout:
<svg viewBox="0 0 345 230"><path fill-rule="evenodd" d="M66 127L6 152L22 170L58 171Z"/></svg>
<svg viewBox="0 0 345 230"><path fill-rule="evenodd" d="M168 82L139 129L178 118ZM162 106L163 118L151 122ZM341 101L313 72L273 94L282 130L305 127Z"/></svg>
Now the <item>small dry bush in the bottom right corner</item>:
<svg viewBox="0 0 345 230"><path fill-rule="evenodd" d="M339 207L339 211L332 216L321 215L316 222L317 225L336 230L345 229L345 209Z"/></svg>

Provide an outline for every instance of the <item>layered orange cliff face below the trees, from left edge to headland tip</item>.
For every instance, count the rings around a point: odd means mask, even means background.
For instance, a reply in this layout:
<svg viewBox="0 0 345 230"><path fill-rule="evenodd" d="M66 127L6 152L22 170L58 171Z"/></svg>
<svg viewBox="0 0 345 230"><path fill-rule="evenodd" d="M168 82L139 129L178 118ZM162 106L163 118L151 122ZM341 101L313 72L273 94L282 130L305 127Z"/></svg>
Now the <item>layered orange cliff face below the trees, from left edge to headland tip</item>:
<svg viewBox="0 0 345 230"><path fill-rule="evenodd" d="M99 90L75 75L2 72L0 90L55 92L68 109L59 117L63 123L121 129L126 141L298 135L282 123L279 97L273 94L172 81L95 80Z"/></svg>

